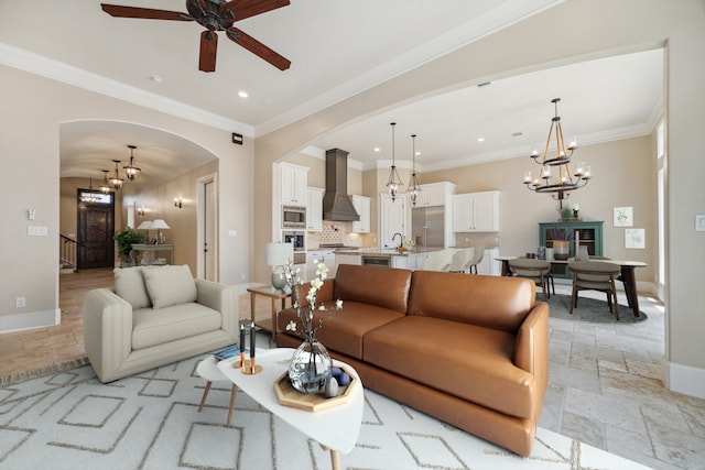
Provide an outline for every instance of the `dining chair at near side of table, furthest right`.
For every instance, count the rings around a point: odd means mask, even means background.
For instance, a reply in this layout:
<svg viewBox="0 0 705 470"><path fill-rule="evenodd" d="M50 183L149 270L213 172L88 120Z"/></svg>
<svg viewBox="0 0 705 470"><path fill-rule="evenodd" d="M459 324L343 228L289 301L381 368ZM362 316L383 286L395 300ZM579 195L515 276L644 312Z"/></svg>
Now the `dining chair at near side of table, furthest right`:
<svg viewBox="0 0 705 470"><path fill-rule="evenodd" d="M577 308L577 293L579 291L599 291L607 294L607 305L619 320L619 304L617 303L617 288L615 280L619 277L620 266L615 263L601 261L572 261L568 269L573 273L573 295L571 296L571 315L573 307Z"/></svg>

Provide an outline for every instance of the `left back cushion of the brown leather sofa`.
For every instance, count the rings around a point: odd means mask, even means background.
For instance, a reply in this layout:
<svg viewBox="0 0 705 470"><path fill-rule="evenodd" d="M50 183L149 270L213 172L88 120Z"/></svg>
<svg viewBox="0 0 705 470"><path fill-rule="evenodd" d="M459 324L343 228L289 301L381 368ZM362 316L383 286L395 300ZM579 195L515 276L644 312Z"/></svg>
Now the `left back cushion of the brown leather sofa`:
<svg viewBox="0 0 705 470"><path fill-rule="evenodd" d="M408 270L379 270L340 264L335 275L334 298L340 298L344 303L377 305L406 314L411 273Z"/></svg>

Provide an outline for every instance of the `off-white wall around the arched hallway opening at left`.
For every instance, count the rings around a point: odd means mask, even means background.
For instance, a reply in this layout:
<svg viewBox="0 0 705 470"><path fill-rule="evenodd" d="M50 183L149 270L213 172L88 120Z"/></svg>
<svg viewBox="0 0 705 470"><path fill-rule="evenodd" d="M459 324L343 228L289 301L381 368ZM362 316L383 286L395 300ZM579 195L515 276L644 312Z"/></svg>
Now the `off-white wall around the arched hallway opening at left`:
<svg viewBox="0 0 705 470"><path fill-rule="evenodd" d="M253 143L234 145L218 129L163 114L37 75L0 66L0 331L47 325L58 313L59 124L72 120L116 119L181 135L219 160L228 184L219 186L220 280L249 280ZM173 199L173 196L171 196ZM28 220L34 209L36 219ZM46 237L28 237L28 226L47 228ZM236 233L235 236L230 236ZM245 278L243 278L245 277ZM15 307L15 298L26 306Z"/></svg>

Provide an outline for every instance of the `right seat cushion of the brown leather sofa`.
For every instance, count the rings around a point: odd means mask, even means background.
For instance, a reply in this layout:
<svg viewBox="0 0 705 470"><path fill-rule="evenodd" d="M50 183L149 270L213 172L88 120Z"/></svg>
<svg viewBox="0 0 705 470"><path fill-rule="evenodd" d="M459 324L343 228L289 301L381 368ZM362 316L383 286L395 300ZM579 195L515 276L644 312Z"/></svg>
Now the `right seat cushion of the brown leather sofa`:
<svg viewBox="0 0 705 470"><path fill-rule="evenodd" d="M539 385L513 364L514 341L514 335L496 329L408 316L368 332L362 348L364 360L381 369L507 415L531 418Z"/></svg>

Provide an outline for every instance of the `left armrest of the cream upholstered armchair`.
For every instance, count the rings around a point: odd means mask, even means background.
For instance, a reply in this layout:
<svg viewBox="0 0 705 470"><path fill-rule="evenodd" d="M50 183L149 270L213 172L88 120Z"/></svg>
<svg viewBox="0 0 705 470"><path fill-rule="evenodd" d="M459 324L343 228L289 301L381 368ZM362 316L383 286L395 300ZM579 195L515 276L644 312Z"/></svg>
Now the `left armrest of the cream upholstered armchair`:
<svg viewBox="0 0 705 470"><path fill-rule="evenodd" d="M109 288L86 294L84 348L102 382L115 380L115 372L132 350L132 306Z"/></svg>

